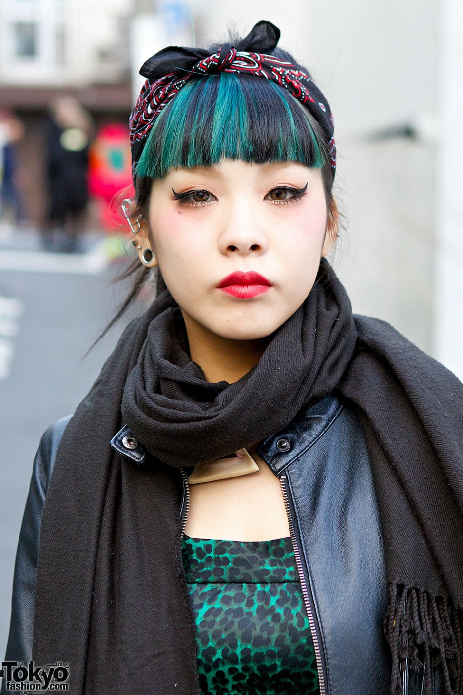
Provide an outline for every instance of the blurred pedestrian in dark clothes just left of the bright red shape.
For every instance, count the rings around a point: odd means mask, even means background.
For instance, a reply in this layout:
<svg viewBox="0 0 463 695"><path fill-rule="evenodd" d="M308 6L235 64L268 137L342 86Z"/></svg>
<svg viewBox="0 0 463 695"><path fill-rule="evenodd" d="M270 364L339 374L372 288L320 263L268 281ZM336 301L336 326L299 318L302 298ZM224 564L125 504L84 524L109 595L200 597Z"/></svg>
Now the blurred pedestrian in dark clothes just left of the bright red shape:
<svg viewBox="0 0 463 695"><path fill-rule="evenodd" d="M76 252L85 229L88 153L92 121L74 97L59 97L46 133L45 178L48 210L42 228L44 249Z"/></svg>

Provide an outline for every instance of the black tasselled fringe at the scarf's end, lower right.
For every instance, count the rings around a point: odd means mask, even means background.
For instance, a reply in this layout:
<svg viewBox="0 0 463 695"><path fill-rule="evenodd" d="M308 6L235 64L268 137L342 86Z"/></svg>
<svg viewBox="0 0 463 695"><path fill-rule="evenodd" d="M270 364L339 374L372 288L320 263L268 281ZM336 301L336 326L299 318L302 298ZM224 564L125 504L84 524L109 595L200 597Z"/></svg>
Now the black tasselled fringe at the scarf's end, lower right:
<svg viewBox="0 0 463 695"><path fill-rule="evenodd" d="M463 611L442 596L401 584L390 586L385 635L392 652L391 695L405 695L407 668L423 673L423 693L434 695L432 670L440 668L446 695L463 693Z"/></svg>

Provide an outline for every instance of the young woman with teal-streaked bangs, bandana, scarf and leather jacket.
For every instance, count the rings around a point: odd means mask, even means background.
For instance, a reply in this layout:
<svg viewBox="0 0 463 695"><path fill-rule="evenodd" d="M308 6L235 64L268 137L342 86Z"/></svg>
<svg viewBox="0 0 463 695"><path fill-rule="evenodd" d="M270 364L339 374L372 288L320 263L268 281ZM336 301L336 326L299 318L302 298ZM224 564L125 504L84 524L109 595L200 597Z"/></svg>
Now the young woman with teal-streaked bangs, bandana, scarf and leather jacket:
<svg viewBox="0 0 463 695"><path fill-rule="evenodd" d="M141 70L158 293L42 439L13 592L8 658L74 694L463 692L462 386L352 315L330 108L278 38Z"/></svg>

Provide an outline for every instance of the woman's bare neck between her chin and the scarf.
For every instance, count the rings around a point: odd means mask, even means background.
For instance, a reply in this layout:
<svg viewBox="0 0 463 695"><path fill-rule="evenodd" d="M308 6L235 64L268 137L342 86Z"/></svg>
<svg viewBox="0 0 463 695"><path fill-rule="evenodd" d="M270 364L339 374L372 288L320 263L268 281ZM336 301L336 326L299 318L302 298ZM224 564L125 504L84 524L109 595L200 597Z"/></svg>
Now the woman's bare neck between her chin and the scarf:
<svg viewBox="0 0 463 695"><path fill-rule="evenodd" d="M187 329L192 361L199 364L207 382L234 384L262 357L269 344L269 336L255 341L234 341L222 338L183 315Z"/></svg>

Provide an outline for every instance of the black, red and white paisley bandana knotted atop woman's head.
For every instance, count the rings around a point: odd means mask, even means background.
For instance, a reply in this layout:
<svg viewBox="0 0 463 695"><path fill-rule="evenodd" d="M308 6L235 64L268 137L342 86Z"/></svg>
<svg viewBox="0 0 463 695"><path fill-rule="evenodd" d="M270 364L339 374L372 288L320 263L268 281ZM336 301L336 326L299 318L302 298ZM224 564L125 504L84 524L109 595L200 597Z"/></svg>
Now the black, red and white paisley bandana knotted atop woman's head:
<svg viewBox="0 0 463 695"><path fill-rule="evenodd" d="M129 120L134 179L143 147L162 109L192 76L219 72L269 79L301 101L321 126L334 176L336 147L330 105L306 72L288 60L271 55L279 38L278 27L271 22L258 22L236 47L224 44L213 54L204 49L168 47L146 60L140 69L146 82Z"/></svg>

